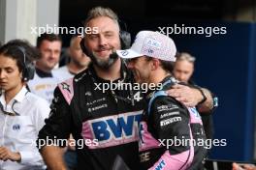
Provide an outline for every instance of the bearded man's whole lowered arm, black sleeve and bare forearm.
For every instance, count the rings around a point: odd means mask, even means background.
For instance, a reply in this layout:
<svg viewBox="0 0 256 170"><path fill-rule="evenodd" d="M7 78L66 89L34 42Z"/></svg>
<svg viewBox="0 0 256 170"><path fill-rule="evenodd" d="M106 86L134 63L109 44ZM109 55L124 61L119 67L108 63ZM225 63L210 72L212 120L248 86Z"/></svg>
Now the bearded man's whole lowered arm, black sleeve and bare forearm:
<svg viewBox="0 0 256 170"><path fill-rule="evenodd" d="M50 109L46 125L39 131L37 146L48 169L62 170L66 169L66 166L63 160L63 150L60 147L68 145L73 119L70 106L58 87L55 89ZM56 146L53 146L53 143Z"/></svg>

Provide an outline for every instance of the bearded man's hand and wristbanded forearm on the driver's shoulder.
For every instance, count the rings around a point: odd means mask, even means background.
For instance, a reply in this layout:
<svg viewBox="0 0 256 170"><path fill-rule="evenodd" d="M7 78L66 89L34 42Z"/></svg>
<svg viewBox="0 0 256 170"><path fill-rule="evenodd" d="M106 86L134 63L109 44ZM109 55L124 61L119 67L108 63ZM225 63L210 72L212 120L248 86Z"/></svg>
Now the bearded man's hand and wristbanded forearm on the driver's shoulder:
<svg viewBox="0 0 256 170"><path fill-rule="evenodd" d="M200 88L200 87L199 87ZM172 89L168 90L169 96L182 102L188 107L197 106L199 112L209 113L214 107L213 98L208 89L200 88L204 94L198 89L186 85L176 84L172 86ZM200 103L206 96L206 100ZM200 104L199 104L200 103Z"/></svg>

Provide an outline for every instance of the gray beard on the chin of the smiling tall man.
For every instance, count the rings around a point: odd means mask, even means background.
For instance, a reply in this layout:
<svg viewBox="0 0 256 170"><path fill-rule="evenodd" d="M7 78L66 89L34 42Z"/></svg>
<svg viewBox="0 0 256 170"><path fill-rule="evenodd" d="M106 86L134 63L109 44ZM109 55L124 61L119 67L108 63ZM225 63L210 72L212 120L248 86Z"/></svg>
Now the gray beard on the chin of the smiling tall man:
<svg viewBox="0 0 256 170"><path fill-rule="evenodd" d="M101 60L95 57L95 54L91 56L92 63L103 71L108 71L112 67L112 65L117 61L117 59L117 55L110 55L110 58L108 60Z"/></svg>

